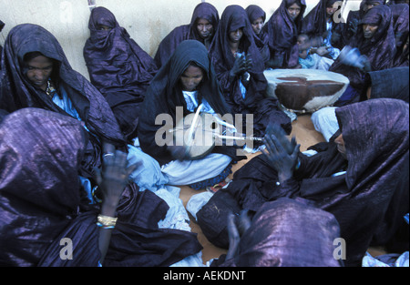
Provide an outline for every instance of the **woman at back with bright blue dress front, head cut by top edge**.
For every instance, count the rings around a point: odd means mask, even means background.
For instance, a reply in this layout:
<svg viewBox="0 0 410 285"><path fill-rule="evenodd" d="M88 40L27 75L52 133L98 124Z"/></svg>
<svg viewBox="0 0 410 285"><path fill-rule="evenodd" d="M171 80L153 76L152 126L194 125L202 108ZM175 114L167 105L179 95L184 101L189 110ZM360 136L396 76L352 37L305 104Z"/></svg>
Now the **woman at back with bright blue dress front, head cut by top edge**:
<svg viewBox="0 0 410 285"><path fill-rule="evenodd" d="M332 43L333 30L337 29L337 25L341 25L334 21L333 16L339 8L339 3L337 0L320 0L308 15L304 16L301 29L302 34L307 34L311 38L321 38L318 43L326 47L325 56L333 60L340 54L340 49Z"/></svg>

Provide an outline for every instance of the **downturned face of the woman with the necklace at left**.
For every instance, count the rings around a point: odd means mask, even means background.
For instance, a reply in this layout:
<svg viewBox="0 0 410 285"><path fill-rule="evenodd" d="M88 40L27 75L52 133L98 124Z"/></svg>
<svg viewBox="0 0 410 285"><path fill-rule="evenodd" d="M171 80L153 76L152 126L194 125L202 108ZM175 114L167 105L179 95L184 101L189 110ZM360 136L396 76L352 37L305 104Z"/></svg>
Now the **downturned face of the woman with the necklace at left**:
<svg viewBox="0 0 410 285"><path fill-rule="evenodd" d="M53 61L46 56L36 56L26 61L26 76L36 87L46 90L47 80L53 72Z"/></svg>

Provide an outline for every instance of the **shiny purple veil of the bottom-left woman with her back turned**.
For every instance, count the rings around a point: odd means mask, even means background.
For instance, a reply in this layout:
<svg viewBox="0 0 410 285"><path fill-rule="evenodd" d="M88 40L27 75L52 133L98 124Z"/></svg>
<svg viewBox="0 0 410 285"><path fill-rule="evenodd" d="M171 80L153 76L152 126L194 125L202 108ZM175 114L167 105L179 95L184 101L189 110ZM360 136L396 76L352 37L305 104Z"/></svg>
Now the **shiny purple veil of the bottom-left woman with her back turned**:
<svg viewBox="0 0 410 285"><path fill-rule="evenodd" d="M5 117L0 137L0 264L36 265L77 212L85 128L71 117L23 108Z"/></svg>

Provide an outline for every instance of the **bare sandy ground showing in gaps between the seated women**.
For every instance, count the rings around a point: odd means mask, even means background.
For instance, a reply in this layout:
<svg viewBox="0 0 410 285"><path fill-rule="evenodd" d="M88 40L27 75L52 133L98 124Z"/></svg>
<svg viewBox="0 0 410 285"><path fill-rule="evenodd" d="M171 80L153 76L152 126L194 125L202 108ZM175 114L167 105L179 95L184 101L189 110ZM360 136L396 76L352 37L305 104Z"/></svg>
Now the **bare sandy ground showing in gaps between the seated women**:
<svg viewBox="0 0 410 285"><path fill-rule="evenodd" d="M314 144L318 142L324 141L324 138L321 133L317 132L314 127L313 123L311 121L311 115L306 114L306 115L300 115L297 117L296 120L292 122L292 133L291 137L296 137L297 143L301 144L301 151L306 150L307 148L313 146ZM232 178L233 173L241 168L247 161L249 161L251 158L261 155L261 152L251 154L248 156L247 160L242 160L236 165L232 167L232 174L229 178ZM202 190L194 190L188 186L181 186L180 187L180 195L179 198L181 198L184 206L187 205L187 202L190 200L190 197L192 195L198 194L200 192L206 191L205 189ZM189 214L190 215L190 214ZM195 232L198 234L198 239L200 241L200 244L202 245L202 260L204 264L214 258L219 258L221 254L226 253L226 249L220 249L218 247L215 247L213 244L210 243L210 241L204 236L202 233L200 226L196 223L196 220L193 219L190 215L190 228L192 232ZM386 252L382 248L370 248L368 249L368 252L372 254L373 256L385 254Z"/></svg>

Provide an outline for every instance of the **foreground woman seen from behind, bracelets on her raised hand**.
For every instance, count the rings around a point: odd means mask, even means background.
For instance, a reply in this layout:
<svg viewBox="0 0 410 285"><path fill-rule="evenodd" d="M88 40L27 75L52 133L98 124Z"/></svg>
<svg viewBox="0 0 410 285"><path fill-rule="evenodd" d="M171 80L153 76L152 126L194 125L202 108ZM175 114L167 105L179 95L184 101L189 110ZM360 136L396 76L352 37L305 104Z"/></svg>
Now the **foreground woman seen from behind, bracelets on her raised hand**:
<svg viewBox="0 0 410 285"><path fill-rule="evenodd" d="M22 139L24 134L24 139ZM200 251L196 235L159 229L169 209L128 183L127 154L104 145L96 197L78 168L88 132L77 119L23 108L0 124L1 266L169 266Z"/></svg>

